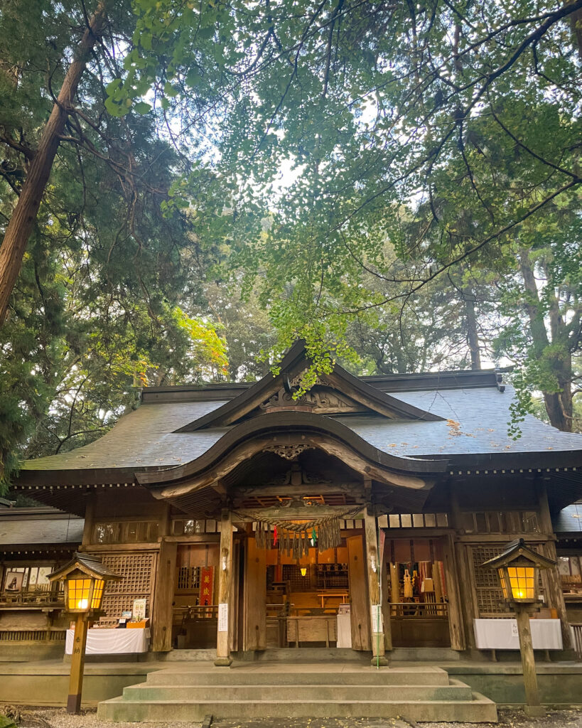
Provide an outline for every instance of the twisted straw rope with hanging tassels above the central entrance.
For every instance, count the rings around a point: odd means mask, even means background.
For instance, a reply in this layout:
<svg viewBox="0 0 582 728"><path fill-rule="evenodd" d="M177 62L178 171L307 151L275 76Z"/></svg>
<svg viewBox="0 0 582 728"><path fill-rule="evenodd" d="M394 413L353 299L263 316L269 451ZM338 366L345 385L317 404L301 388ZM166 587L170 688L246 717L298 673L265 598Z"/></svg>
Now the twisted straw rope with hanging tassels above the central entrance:
<svg viewBox="0 0 582 728"><path fill-rule="evenodd" d="M279 518L266 518L258 512L239 512L242 518L252 518L256 522L255 542L257 548L279 550L292 558L307 556L310 547L317 546L319 553L341 545L340 521L354 518L362 512L362 506L352 507L345 513L334 513L311 521L281 521Z"/></svg>

